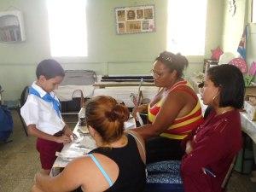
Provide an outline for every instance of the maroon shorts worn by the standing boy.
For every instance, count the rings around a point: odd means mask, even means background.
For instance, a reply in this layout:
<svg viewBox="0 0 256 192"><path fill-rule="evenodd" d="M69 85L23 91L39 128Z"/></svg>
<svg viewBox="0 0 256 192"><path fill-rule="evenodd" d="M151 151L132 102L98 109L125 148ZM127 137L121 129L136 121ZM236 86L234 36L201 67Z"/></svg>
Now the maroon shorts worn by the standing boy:
<svg viewBox="0 0 256 192"><path fill-rule="evenodd" d="M49 140L38 138L37 149L40 154L40 161L44 170L50 170L53 166L56 156L56 151L61 151L63 143L55 143Z"/></svg>

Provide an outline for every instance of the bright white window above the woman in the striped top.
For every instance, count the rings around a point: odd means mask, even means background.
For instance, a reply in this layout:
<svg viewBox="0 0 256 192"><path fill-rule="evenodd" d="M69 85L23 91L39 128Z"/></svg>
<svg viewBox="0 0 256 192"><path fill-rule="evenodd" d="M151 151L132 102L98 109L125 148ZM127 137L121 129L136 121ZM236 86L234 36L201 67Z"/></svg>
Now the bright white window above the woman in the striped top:
<svg viewBox="0 0 256 192"><path fill-rule="evenodd" d="M205 54L207 0L169 0L167 46L173 53Z"/></svg>

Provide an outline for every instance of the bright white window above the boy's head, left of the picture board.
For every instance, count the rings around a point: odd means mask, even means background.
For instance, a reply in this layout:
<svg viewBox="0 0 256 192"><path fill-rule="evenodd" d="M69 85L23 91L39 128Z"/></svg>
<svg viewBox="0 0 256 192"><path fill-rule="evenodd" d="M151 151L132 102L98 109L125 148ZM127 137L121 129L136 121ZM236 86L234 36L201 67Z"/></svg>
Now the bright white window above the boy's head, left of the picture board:
<svg viewBox="0 0 256 192"><path fill-rule="evenodd" d="M52 56L87 56L85 0L48 0Z"/></svg>

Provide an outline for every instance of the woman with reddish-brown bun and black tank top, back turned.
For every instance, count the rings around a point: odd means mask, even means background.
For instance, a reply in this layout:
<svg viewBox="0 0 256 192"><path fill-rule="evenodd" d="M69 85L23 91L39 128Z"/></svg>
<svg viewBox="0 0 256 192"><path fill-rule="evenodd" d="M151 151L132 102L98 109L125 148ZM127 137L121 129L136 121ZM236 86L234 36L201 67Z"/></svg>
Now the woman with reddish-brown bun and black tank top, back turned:
<svg viewBox="0 0 256 192"><path fill-rule="evenodd" d="M86 104L85 117L97 148L71 161L56 177L38 173L32 192L143 191L144 143L135 132L124 133L128 109L110 96L96 96Z"/></svg>

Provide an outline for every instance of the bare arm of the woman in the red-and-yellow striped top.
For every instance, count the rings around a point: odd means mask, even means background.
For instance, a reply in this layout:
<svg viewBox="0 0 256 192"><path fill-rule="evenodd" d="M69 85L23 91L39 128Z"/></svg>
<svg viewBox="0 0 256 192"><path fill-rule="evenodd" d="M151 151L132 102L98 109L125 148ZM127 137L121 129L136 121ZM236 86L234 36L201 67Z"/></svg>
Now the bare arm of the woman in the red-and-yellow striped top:
<svg viewBox="0 0 256 192"><path fill-rule="evenodd" d="M151 125L143 125L137 129L133 129L133 131L139 133L143 139L159 136L160 133L172 125L172 122L177 118L186 104L191 102L191 100L188 101L188 98L190 98L188 97L188 94L182 91L170 93L162 103L160 111L157 113L154 122Z"/></svg>

